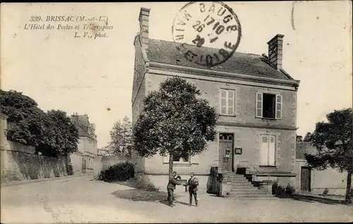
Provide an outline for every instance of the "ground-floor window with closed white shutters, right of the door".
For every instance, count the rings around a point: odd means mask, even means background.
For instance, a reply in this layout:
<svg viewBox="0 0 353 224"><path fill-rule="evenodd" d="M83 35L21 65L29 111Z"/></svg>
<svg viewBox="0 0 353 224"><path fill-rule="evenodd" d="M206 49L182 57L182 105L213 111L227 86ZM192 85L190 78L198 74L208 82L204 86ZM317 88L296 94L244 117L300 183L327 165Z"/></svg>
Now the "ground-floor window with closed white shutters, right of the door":
<svg viewBox="0 0 353 224"><path fill-rule="evenodd" d="M262 135L260 148L260 165L275 165L275 136Z"/></svg>

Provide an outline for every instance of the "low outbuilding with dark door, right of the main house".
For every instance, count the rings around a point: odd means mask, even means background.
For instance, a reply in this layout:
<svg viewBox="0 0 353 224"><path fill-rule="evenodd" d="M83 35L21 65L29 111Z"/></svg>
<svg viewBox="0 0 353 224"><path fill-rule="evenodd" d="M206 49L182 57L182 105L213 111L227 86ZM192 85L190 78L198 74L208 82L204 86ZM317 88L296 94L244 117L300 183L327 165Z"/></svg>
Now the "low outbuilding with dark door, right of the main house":
<svg viewBox="0 0 353 224"><path fill-rule="evenodd" d="M315 170L306 163L304 154L316 154L316 148L304 141L297 142L297 157L295 165L296 191L323 194L327 188L328 194L345 195L347 186L347 172L328 167L326 170Z"/></svg>

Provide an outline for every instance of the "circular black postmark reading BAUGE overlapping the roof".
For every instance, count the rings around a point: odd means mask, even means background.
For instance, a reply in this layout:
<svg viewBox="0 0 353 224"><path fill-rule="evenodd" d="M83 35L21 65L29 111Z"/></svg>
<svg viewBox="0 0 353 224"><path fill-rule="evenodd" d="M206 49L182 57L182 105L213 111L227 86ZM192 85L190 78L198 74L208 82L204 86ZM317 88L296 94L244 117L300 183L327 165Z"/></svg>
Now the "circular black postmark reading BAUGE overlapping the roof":
<svg viewBox="0 0 353 224"><path fill-rule="evenodd" d="M232 57L241 27L232 8L223 2L190 2L174 18L172 36L187 60L212 67Z"/></svg>

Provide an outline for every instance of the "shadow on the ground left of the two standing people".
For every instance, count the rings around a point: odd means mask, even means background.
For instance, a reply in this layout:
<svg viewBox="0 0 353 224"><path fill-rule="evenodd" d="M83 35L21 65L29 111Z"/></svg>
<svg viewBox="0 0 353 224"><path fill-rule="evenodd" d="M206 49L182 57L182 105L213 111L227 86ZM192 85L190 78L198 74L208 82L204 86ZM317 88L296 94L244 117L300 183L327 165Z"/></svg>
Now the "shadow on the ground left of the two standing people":
<svg viewBox="0 0 353 224"><path fill-rule="evenodd" d="M144 189L126 189L114 191L112 195L120 199L128 199L131 201L160 201L162 204L168 204L167 192L163 191L146 191ZM177 199L179 196L174 194Z"/></svg>

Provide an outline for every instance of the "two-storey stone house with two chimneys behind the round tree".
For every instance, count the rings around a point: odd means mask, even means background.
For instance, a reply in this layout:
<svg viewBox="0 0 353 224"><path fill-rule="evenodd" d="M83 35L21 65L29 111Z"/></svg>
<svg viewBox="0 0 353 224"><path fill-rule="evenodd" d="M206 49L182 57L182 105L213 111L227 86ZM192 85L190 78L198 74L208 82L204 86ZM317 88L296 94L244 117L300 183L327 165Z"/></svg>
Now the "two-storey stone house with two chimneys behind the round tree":
<svg viewBox="0 0 353 224"><path fill-rule="evenodd" d="M174 155L174 170L182 177L194 172L206 188L211 167L218 172L238 172L253 180L273 179L294 183L299 81L282 69L283 35L268 42L265 54L235 52L224 64L207 68L188 61L177 43L148 37L150 10L140 10L140 31L134 40L136 57L133 78L133 124L143 110L143 98L172 76L186 78L201 90L220 114L217 139L200 155ZM188 46L192 47L193 46ZM215 49L202 47L205 54ZM132 159L136 177L165 187L168 158L155 155Z"/></svg>

